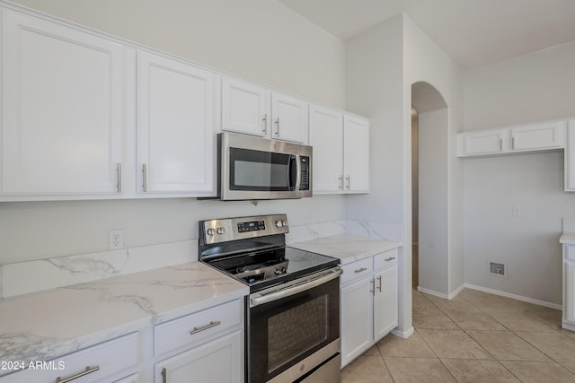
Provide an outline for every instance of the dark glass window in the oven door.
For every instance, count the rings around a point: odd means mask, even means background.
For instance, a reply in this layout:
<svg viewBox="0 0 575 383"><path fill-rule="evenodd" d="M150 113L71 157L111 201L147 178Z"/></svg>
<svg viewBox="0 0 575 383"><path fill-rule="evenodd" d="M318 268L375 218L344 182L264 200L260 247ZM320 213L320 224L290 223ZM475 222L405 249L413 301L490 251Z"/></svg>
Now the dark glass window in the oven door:
<svg viewBox="0 0 575 383"><path fill-rule="evenodd" d="M293 361L328 338L328 296L268 319L268 372Z"/></svg>

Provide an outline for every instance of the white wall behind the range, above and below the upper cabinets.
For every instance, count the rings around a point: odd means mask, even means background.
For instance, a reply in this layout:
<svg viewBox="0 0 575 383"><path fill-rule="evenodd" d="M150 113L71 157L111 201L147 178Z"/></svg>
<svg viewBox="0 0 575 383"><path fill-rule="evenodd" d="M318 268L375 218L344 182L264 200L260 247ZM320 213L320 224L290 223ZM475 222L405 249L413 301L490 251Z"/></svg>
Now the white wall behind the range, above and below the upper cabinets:
<svg viewBox="0 0 575 383"><path fill-rule="evenodd" d="M344 107L345 45L269 0L16 0L40 12ZM345 218L342 196L292 201L146 200L0 203L0 265L198 238L198 222L288 213L291 225ZM314 215L315 214L315 215Z"/></svg>

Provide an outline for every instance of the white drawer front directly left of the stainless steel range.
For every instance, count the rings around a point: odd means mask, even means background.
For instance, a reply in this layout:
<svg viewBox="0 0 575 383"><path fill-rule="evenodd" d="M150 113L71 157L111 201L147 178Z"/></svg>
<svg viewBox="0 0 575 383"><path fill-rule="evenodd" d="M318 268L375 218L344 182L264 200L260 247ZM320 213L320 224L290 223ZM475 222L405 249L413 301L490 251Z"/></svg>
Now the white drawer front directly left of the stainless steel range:
<svg viewBox="0 0 575 383"><path fill-rule="evenodd" d="M161 355L242 323L240 300L174 319L154 328L155 355Z"/></svg>

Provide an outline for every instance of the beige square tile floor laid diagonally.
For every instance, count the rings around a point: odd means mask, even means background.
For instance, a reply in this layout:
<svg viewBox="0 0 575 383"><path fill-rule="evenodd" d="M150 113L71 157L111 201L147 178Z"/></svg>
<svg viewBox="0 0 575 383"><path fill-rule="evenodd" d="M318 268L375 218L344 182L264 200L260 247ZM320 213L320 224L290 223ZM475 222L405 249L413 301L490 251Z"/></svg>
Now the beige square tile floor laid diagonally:
<svg viewBox="0 0 575 383"><path fill-rule="evenodd" d="M408 339L387 335L341 370L341 382L575 383L575 333L562 312L464 289L413 291Z"/></svg>

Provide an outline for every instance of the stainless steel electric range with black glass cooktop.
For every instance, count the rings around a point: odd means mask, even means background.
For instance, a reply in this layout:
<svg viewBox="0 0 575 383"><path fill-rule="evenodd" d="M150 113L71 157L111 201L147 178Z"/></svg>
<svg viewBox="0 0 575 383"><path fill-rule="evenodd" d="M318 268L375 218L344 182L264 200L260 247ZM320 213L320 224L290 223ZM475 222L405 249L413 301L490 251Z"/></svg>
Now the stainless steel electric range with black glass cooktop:
<svg viewBox="0 0 575 383"><path fill-rule="evenodd" d="M340 381L340 260L286 246L286 214L199 222L199 259L250 286L246 381Z"/></svg>

